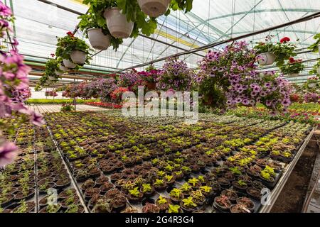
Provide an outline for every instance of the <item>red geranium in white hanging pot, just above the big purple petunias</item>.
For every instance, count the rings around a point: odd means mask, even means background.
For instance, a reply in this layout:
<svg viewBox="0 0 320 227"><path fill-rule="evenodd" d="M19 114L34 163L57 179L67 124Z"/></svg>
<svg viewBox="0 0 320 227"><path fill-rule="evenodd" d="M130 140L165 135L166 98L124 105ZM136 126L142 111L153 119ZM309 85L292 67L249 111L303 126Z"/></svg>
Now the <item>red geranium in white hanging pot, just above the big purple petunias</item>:
<svg viewBox="0 0 320 227"><path fill-rule="evenodd" d="M276 62L277 67L284 65L284 61L289 57L297 56L294 53L296 45L290 42L290 38L284 37L278 43L272 43L273 36L267 36L266 43L257 43L255 51L260 65L272 65Z"/></svg>

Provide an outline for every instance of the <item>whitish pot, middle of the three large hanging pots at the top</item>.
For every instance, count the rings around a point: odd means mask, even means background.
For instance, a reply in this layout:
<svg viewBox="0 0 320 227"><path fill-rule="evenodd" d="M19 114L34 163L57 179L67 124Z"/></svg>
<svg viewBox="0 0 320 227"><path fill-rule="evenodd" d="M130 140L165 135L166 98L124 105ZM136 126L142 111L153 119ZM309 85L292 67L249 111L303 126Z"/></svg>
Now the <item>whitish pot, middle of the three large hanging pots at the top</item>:
<svg viewBox="0 0 320 227"><path fill-rule="evenodd" d="M120 10L117 7L106 9L104 16L107 20L108 29L113 37L130 37L134 28L134 23L132 21L128 22L127 17L120 13Z"/></svg>

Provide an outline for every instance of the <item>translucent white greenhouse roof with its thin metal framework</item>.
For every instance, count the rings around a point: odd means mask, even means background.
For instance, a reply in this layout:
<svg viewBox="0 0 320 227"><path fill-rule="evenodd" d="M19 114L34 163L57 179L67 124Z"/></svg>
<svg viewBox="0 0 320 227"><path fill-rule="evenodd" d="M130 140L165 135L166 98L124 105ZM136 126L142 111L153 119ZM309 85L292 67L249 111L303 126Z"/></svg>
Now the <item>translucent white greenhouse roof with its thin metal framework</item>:
<svg viewBox="0 0 320 227"><path fill-rule="evenodd" d="M21 54L25 55L26 62L33 66L35 73L31 73L31 80L36 82L41 76L43 63L51 53L55 52L57 37L75 30L79 22L78 16L86 13L87 6L82 4L82 0L45 2L4 0L4 2L14 11L16 16L14 35L20 43ZM96 55L92 58L90 65L85 65L77 76L64 77L60 83L78 81L78 78L81 77L90 79L110 74L127 67L174 55L183 50L191 50L277 26L319 11L319 0L193 0L191 12L184 14L174 11L169 16L159 17L156 33L151 35L153 39L144 36L128 38L124 40L123 45L120 45L117 52L110 48L103 52L92 53ZM250 45L253 46L256 42L264 40L267 35L275 35L274 41L288 36L292 40L298 40L298 48L304 52L299 55L299 58L310 60L319 57L317 53L305 52L305 48L314 43L313 36L316 33L320 33L320 18L253 35L245 40L252 42ZM76 36L85 39L80 31L76 33ZM225 45L216 48L222 49ZM197 62L202 58L201 55L205 54L206 50L203 50L197 54L183 55L180 59L185 60L189 67L197 67ZM302 72L304 76L300 75L290 80L303 82L309 77L309 67L314 63L307 62L306 70ZM163 64L164 61L156 62L155 66L161 67ZM138 70L143 70L143 68L138 68Z"/></svg>

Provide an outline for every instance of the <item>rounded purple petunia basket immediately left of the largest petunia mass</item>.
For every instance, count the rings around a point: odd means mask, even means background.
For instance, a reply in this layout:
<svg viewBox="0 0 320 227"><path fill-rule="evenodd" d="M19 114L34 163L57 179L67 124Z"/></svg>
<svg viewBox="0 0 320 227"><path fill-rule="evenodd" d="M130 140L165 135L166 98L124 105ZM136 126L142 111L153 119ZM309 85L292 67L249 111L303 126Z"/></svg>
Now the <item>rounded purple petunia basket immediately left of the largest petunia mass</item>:
<svg viewBox="0 0 320 227"><path fill-rule="evenodd" d="M164 91L190 91L195 74L188 68L186 62L169 58L163 66L162 72L156 79L156 88Z"/></svg>

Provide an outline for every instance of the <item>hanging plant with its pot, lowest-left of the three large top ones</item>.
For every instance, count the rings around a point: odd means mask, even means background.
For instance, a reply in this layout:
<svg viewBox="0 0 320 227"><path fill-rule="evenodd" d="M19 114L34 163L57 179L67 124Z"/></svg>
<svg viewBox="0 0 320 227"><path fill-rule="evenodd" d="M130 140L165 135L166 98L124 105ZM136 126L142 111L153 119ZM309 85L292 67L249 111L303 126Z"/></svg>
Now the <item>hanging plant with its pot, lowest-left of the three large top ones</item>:
<svg viewBox="0 0 320 227"><path fill-rule="evenodd" d="M119 45L123 43L122 38L114 38L107 24L105 18L98 17L95 12L92 12L93 8L90 7L89 12L80 16L79 23L80 31L85 33L85 37L89 39L92 48L97 50L107 50L110 45L117 51Z"/></svg>

